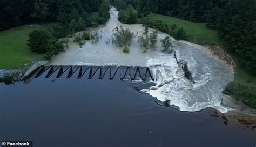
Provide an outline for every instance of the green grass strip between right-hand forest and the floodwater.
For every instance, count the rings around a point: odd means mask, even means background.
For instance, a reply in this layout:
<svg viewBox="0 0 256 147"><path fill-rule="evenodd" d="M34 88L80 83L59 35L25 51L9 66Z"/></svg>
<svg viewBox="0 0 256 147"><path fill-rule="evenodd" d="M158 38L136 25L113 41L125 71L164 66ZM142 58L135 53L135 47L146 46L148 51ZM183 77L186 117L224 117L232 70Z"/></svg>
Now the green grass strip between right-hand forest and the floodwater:
<svg viewBox="0 0 256 147"><path fill-rule="evenodd" d="M206 24L204 23L193 23L191 21L182 20L176 17L163 16L154 13L151 13L150 16L163 21L167 25L171 26L176 24L183 27L186 30L188 41L190 42L199 44L213 43L225 48L223 42L218 38L218 31L207 28ZM227 50L227 53L230 54L233 57L233 60L237 63L234 82L241 85L256 87L255 76L247 73L245 68L238 63L238 56L229 50Z"/></svg>

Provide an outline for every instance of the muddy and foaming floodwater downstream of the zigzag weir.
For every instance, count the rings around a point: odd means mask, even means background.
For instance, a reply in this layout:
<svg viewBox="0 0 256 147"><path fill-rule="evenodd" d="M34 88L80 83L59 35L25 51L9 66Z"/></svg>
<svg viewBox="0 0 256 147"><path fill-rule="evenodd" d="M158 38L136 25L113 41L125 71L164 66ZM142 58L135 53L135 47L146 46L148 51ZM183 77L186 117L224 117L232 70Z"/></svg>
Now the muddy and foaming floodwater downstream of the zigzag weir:
<svg viewBox="0 0 256 147"><path fill-rule="evenodd" d="M160 40L167 34L158 32L156 49L148 49L143 53L145 49L140 46L138 39L134 38L129 47L130 53L123 53L122 48L118 48L110 41L114 27L122 25L140 35L143 26L120 23L115 8L111 8L110 14L111 18L106 25L90 28L91 32L98 31L98 43L92 44L91 41L87 41L82 48L70 44L69 49L59 53L48 64L149 66L155 76L156 86L154 89L142 91L161 101L171 100L171 105L178 106L181 111L200 111L207 107L218 108L221 112L227 111L227 108L220 104L221 92L233 80L233 73L225 64L198 45L173 40L178 59L188 62L188 69L196 82L192 84L184 77L184 72L177 66L173 55L161 52ZM152 31L153 29L150 29L150 32Z"/></svg>

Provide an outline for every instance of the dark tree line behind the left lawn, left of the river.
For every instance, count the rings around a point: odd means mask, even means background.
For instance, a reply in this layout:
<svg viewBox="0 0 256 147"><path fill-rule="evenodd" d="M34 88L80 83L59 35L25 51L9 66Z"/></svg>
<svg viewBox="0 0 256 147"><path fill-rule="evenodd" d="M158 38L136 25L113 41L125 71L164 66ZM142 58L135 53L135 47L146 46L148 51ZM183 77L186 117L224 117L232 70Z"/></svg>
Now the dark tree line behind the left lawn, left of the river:
<svg viewBox="0 0 256 147"><path fill-rule="evenodd" d="M108 1L1 0L0 31L28 23L52 21L62 24L71 23L71 25L78 21L85 21L86 26L96 26L105 23L109 18L109 11L102 6L103 3L108 3ZM99 13L92 16L93 12Z"/></svg>

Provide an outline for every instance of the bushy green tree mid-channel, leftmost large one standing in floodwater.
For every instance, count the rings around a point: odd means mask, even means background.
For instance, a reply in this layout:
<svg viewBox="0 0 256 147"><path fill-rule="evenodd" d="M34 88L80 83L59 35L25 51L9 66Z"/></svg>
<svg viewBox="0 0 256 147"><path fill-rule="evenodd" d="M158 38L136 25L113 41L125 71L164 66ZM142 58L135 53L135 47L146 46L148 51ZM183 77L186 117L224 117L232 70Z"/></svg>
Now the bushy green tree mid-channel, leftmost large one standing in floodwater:
<svg viewBox="0 0 256 147"><path fill-rule="evenodd" d="M115 31L112 40L118 47L126 46L131 42L133 34L129 29L125 30L123 26L117 26Z"/></svg>

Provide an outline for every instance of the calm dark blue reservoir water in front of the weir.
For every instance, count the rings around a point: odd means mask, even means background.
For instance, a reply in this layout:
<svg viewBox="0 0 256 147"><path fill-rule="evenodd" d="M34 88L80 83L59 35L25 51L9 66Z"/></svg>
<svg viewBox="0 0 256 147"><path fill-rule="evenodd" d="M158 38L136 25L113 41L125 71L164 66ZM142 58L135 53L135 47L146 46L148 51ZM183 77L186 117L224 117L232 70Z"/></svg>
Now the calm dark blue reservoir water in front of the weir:
<svg viewBox="0 0 256 147"><path fill-rule="evenodd" d="M0 84L0 141L55 147L255 147L255 126L213 109L189 113L157 105L156 98L137 90L151 85L86 78Z"/></svg>

